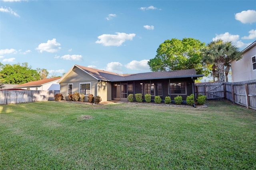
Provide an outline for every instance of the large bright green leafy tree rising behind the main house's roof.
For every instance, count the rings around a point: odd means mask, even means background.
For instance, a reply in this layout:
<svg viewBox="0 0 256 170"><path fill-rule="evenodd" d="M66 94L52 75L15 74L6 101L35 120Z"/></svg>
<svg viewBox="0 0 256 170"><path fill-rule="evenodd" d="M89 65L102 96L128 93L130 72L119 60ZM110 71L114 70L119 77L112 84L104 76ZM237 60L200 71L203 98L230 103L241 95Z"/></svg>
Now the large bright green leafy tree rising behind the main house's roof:
<svg viewBox="0 0 256 170"><path fill-rule="evenodd" d="M151 71L196 69L197 74L207 76L210 72L202 63L201 50L204 48L205 43L194 38L165 40L156 50L156 57L148 61L148 65Z"/></svg>

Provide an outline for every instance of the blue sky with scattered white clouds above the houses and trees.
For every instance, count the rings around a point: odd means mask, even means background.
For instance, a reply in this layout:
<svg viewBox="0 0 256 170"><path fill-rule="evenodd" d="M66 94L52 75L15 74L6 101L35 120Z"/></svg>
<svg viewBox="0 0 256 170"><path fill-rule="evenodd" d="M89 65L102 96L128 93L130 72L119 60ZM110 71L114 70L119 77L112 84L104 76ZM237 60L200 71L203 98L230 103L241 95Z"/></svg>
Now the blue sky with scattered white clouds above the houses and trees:
<svg viewBox="0 0 256 170"><path fill-rule="evenodd" d="M149 72L160 43L256 40L254 0L0 0L0 62L62 75L74 64Z"/></svg>

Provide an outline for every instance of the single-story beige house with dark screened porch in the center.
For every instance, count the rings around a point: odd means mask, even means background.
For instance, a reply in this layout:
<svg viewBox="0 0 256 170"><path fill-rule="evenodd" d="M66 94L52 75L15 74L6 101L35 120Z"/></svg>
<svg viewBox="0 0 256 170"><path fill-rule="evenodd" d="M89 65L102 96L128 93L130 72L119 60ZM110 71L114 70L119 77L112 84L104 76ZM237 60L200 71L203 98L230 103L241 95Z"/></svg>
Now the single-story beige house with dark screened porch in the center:
<svg viewBox="0 0 256 170"><path fill-rule="evenodd" d="M98 95L102 101L127 101L129 94L151 94L173 100L177 95L183 100L194 94L194 80L203 75L196 75L195 69L179 71L158 71L137 74L117 74L104 70L74 65L59 81L60 93L83 93Z"/></svg>

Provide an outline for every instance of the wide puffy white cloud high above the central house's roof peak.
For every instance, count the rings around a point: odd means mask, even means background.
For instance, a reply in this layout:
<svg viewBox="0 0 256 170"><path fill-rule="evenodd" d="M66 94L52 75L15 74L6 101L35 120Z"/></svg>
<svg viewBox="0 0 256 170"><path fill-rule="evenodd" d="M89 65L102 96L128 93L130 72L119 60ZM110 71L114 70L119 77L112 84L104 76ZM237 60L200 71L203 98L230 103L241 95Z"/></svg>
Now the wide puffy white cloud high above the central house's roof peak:
<svg viewBox="0 0 256 170"><path fill-rule="evenodd" d="M120 46L126 40L132 40L132 38L136 36L136 34L126 34L120 32L116 32L116 34L117 35L103 34L98 36L98 39L100 40L97 40L96 43L102 43L104 46Z"/></svg>

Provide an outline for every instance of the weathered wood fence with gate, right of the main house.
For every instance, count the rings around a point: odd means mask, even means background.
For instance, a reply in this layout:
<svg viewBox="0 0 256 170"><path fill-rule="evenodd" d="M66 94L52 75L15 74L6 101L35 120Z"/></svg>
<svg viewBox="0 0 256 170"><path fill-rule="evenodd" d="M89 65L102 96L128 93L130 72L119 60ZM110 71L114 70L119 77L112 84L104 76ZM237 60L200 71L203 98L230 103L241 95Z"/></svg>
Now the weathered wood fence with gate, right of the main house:
<svg viewBox="0 0 256 170"><path fill-rule="evenodd" d="M206 99L228 99L233 103L256 110L256 80L225 83L196 83L195 95Z"/></svg>

